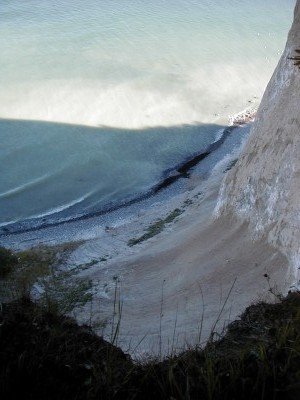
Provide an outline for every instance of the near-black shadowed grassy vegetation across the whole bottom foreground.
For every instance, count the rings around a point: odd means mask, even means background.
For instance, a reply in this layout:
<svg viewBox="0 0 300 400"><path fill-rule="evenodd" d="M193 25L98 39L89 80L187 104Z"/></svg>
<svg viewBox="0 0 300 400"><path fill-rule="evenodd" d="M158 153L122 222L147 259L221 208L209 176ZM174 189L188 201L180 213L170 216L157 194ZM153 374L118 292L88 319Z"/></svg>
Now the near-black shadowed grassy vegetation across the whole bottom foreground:
<svg viewBox="0 0 300 400"><path fill-rule="evenodd" d="M299 398L298 293L248 307L203 350L144 365L29 300L3 305L0 318L3 399Z"/></svg>

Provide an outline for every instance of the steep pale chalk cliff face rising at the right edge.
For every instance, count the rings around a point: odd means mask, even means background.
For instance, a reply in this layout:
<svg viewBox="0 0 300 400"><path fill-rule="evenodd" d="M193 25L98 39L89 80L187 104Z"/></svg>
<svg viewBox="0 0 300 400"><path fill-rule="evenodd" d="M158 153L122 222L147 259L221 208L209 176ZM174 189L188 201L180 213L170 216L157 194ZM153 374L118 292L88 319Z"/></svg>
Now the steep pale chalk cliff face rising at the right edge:
<svg viewBox="0 0 300 400"><path fill-rule="evenodd" d="M300 49L300 0L285 51L263 96L249 141L226 176L217 214L249 221L289 259L299 285L300 268L300 69L289 57Z"/></svg>

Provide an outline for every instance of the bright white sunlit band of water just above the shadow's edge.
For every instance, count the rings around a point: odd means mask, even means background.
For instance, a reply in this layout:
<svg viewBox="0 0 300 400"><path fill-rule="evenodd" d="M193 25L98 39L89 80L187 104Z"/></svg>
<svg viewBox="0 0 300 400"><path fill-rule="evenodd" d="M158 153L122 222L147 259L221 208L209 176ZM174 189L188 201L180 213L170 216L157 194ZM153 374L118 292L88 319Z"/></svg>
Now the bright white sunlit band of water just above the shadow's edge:
<svg viewBox="0 0 300 400"><path fill-rule="evenodd" d="M252 99L258 104L271 70L228 64L185 71L180 82L159 77L108 84L62 79L8 83L0 95L1 118L138 129L194 123L226 123ZM255 98L254 98L255 96Z"/></svg>

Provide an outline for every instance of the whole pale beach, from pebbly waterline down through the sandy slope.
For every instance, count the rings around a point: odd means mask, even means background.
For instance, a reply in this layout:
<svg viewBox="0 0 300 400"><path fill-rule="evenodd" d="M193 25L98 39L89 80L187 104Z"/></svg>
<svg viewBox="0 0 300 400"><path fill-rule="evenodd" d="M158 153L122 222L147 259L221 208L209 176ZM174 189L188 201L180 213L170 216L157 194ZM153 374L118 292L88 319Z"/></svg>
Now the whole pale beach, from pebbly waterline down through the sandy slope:
<svg viewBox="0 0 300 400"><path fill-rule="evenodd" d="M176 351L192 346L199 338L199 307L205 314L201 331L201 342L205 342L237 278L215 326L216 334L252 301L268 297L264 274L283 291L287 286L288 262L280 252L265 242L254 242L247 224L214 217L221 183L239 157L250 126L232 129L235 134L228 135L222 146L197 164L189 179L161 190L153 196L156 201L146 199L125 209L127 214L122 209L121 215L116 211L106 220L105 216L92 217L7 236L7 247L25 250L78 242L59 271L74 271L78 279L90 280L93 298L74 309L74 316L80 324L92 321L93 326L107 321L97 332L109 339L119 287L124 308L118 344L136 359L147 354L167 355L175 321ZM183 183L181 190L173 191L179 182ZM149 231L154 234L147 236ZM146 239L140 240L145 235ZM131 246L133 242L136 245ZM54 249L59 253L58 247ZM250 284L253 290L245 291ZM38 298L39 285L32 290ZM239 301L233 301L235 298Z"/></svg>

